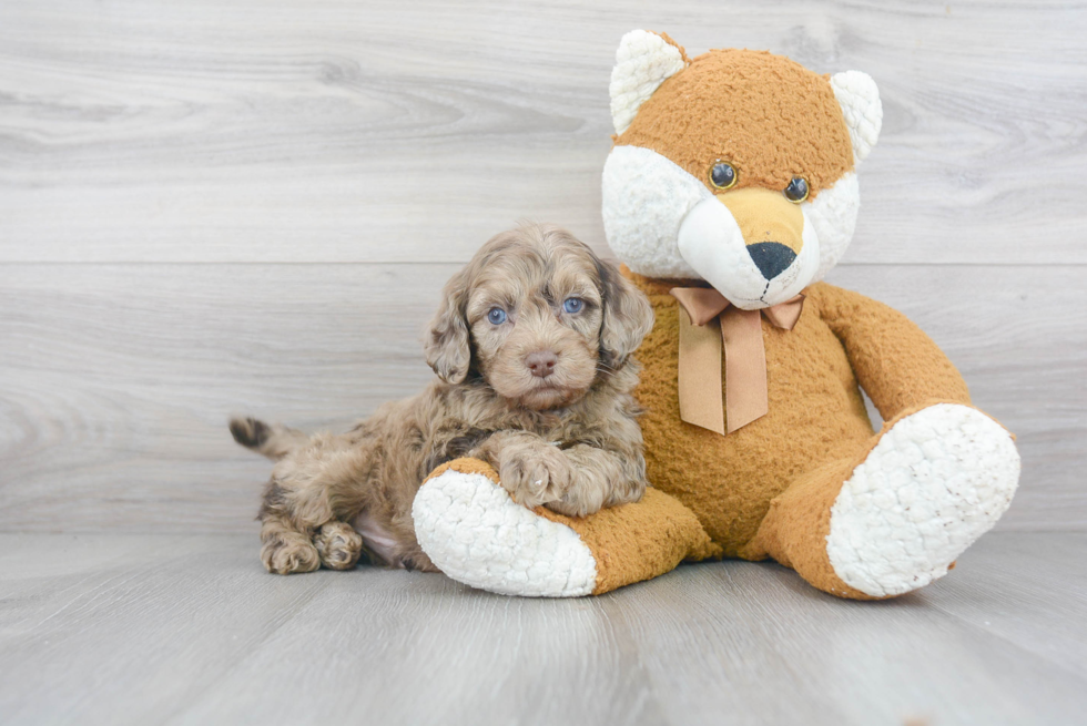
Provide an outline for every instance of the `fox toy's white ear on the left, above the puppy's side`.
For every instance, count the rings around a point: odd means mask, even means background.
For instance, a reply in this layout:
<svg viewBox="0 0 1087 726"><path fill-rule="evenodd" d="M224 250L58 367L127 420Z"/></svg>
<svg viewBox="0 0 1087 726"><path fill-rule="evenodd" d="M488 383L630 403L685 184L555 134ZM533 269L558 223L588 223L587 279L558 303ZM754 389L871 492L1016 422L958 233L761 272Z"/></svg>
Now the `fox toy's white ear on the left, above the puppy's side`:
<svg viewBox="0 0 1087 726"><path fill-rule="evenodd" d="M611 70L611 121L616 133L627 131L641 104L685 67L683 52L657 33L632 30L623 35Z"/></svg>

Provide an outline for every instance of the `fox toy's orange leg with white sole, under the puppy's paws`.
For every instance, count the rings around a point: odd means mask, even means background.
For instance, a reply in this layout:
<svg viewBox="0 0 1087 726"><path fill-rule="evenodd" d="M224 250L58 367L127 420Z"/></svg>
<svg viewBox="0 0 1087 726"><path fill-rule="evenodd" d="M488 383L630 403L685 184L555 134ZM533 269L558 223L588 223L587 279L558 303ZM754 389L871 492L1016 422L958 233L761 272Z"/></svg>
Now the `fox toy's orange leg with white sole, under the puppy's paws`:
<svg viewBox="0 0 1087 726"><path fill-rule="evenodd" d="M443 572L505 595L599 595L721 553L689 509L654 489L573 519L515 503L477 459L436 469L412 513L419 545Z"/></svg>

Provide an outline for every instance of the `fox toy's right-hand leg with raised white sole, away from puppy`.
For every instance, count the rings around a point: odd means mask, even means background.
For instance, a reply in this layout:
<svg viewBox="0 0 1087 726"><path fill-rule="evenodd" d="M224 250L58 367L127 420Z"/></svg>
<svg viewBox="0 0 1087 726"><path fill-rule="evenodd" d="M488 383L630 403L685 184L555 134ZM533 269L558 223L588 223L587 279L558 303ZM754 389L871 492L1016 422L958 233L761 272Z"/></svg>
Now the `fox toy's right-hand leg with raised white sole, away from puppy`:
<svg viewBox="0 0 1087 726"><path fill-rule="evenodd" d="M945 575L1012 502L1019 456L977 409L937 403L887 422L857 457L773 500L741 556L771 556L820 590L891 597Z"/></svg>

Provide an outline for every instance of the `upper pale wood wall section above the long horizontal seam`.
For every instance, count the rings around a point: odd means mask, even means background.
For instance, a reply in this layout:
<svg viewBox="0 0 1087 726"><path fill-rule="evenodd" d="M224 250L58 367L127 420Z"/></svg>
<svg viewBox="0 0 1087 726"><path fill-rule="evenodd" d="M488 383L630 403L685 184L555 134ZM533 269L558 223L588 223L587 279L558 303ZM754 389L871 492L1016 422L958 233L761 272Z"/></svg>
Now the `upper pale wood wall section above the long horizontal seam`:
<svg viewBox="0 0 1087 726"><path fill-rule="evenodd" d="M1087 263L1077 2L7 0L0 260L463 262L603 246L622 33L878 82L843 264Z"/></svg>

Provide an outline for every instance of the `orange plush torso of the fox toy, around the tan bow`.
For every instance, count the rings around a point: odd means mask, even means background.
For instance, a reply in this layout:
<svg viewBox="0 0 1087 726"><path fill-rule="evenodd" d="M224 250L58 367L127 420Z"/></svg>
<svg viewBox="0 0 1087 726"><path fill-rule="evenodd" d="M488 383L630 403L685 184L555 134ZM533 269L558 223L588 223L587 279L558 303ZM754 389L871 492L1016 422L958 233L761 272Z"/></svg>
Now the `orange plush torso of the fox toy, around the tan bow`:
<svg viewBox="0 0 1087 726"><path fill-rule="evenodd" d="M638 351L643 370L636 392L647 408L641 426L649 481L690 507L725 554L738 556L770 500L810 462L849 456L872 437L845 349L820 317L823 286L809 288L792 330L763 320L770 412L722 437L680 420L679 303L668 294L674 280L623 274L649 296L657 315ZM693 284L704 285L683 282ZM820 413L813 419L812 411Z"/></svg>

